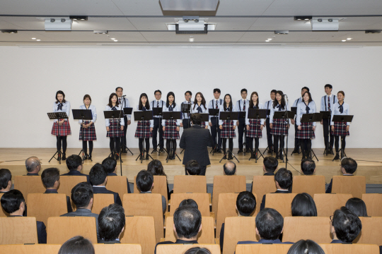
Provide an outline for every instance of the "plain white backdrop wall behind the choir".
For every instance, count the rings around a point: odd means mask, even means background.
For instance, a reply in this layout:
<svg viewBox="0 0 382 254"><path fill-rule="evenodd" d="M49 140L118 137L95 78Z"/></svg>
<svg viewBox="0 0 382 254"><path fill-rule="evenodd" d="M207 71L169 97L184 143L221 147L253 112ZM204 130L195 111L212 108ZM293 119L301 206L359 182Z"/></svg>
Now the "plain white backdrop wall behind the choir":
<svg viewBox="0 0 382 254"><path fill-rule="evenodd" d="M146 92L154 99L160 89L162 99L175 92L175 102L184 93L202 92L209 101L213 89L221 89L236 102L240 90L257 91L260 102L270 99L270 90L282 90L290 102L300 97L301 87L311 89L320 107L324 85L333 92L345 91L345 102L354 114L347 147L382 147L381 59L382 47L364 48L21 48L0 47L0 147L54 147L52 122L47 112L57 90L63 90L71 109L83 104L89 94L97 108L95 148L108 147L103 110L115 87L124 87L132 107ZM192 97L194 99L194 97ZM378 109L378 111L376 111ZM381 115L381 114L379 114ZM79 124L70 116L72 135L68 147L81 147ZM128 127L129 147L138 147L134 138L136 122ZM294 129L289 147L294 145ZM265 130L263 136L266 136ZM234 140L237 147L237 138ZM323 147L323 127L318 124L313 147ZM266 138L260 147L266 147ZM152 147L151 147L152 148Z"/></svg>

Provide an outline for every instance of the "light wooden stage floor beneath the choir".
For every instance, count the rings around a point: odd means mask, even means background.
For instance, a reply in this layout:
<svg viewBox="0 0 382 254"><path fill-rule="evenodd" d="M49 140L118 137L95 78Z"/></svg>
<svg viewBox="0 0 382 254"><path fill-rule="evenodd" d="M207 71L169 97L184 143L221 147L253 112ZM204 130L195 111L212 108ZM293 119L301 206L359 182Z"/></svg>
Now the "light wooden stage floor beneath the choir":
<svg viewBox="0 0 382 254"><path fill-rule="evenodd" d="M142 164L139 160L135 160L139 155L138 149L131 149L134 155L122 154L122 175L127 176L129 181L133 181L134 176L138 174L141 169L146 169L149 161L144 161ZM264 148L261 149L263 151ZM68 149L66 155L79 154L80 149ZM238 149L234 149L233 152L237 153ZM63 162L59 164L56 159L52 159L48 162L52 155L56 152L53 148L1 148L0 149L0 168L10 169L13 176L21 176L26 174L25 159L31 156L38 157L42 162L42 170L48 167L57 167L62 174L66 173L68 169ZM316 175L325 176L327 183L330 182L332 176L340 175L340 160L332 162L333 156L324 156L323 149L315 149L319 162L316 161ZM93 150L93 162L86 160L83 164L83 173L88 174L93 164L102 162L105 157L110 153L110 150L106 148L98 148ZM178 156L183 160L183 154L180 155L180 149L177 150ZM291 150L289 150L289 163L287 169L291 170L294 175L299 175L298 171L301 171L301 155L294 154L290 156ZM381 155L382 149L347 149L347 156L352 157L358 163L358 169L356 174L358 176L366 176L366 183L382 184L382 162ZM161 153L158 156L157 153L151 155L154 159L161 160L164 170L168 176L168 182L173 183L173 176L185 174L182 162L179 159L169 160L166 163L166 155ZM207 167L207 183L213 183L215 175L223 174L223 164L226 160L219 163L221 153L216 153L214 156L210 154L211 165ZM255 159L249 159L249 155L243 154L236 155L240 163L233 159L233 162L237 166L237 175L246 176L247 183L251 183L254 175L262 175L262 158L255 163ZM285 163L279 160L279 168L285 167ZM117 174L120 175L120 163L117 164ZM296 171L296 170L298 171ZM41 174L41 172L40 172Z"/></svg>

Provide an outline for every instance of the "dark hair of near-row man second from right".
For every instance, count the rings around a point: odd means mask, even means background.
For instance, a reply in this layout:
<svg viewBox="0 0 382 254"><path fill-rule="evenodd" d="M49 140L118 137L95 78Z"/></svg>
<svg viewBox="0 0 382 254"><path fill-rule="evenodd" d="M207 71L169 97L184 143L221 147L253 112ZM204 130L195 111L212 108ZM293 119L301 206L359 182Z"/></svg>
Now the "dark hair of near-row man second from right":
<svg viewBox="0 0 382 254"><path fill-rule="evenodd" d="M284 218L273 208L264 208L256 215L255 223L262 239L276 240L282 234Z"/></svg>

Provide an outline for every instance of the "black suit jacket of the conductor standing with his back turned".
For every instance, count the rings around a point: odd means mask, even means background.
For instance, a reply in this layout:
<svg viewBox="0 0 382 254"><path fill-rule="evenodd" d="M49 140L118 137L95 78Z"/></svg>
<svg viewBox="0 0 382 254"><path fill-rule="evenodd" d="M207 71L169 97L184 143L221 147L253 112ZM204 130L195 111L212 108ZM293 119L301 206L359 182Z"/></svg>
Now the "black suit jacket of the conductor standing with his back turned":
<svg viewBox="0 0 382 254"><path fill-rule="evenodd" d="M180 138L179 146L185 150L183 165L191 159L195 159L200 166L211 164L207 147L212 147L212 137L208 129L202 128L202 126L192 126L185 129Z"/></svg>

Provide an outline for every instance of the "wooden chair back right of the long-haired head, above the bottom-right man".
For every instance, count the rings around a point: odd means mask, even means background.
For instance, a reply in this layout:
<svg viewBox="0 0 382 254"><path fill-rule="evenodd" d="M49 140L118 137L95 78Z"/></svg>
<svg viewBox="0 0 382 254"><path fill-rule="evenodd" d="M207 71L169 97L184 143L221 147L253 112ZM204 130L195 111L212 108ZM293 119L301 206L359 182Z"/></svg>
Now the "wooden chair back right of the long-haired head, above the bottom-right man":
<svg viewBox="0 0 382 254"><path fill-rule="evenodd" d="M317 216L329 217L335 210L345 206L347 200L353 198L352 194L315 194L313 200L317 207Z"/></svg>

